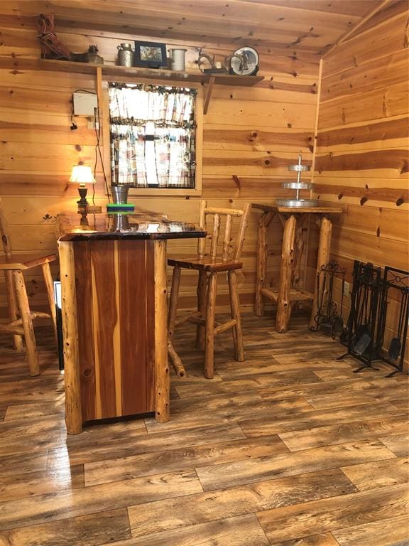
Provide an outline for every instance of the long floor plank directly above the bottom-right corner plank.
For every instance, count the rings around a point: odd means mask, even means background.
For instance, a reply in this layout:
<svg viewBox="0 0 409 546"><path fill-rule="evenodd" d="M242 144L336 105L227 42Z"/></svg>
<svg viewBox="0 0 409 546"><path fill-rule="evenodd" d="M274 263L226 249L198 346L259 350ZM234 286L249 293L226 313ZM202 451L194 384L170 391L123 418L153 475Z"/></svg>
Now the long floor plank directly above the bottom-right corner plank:
<svg viewBox="0 0 409 546"><path fill-rule="evenodd" d="M407 514L408 486L398 485L258 512L271 544ZM376 536L376 535L375 535ZM375 537L372 535L375 545ZM355 545L354 545L355 546ZM376 545L378 546L378 545Z"/></svg>

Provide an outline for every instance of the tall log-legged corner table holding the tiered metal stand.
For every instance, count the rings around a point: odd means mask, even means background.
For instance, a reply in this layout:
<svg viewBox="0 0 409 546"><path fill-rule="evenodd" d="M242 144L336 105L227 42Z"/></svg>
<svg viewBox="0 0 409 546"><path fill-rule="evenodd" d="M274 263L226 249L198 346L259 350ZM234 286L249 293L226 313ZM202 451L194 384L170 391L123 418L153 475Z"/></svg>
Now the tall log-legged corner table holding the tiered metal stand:
<svg viewBox="0 0 409 546"><path fill-rule="evenodd" d="M314 324L317 314L317 286L312 293L303 289L295 289L292 286L293 261L295 256L295 232L297 222L301 216L307 214L317 215L320 218L320 242L318 245L317 272L322 265L329 262L329 248L331 245L332 222L329 214L342 213L340 207L281 207L276 205L259 205L252 203L253 208L263 210L258 222L257 244L257 276L256 276L256 315L263 316L263 297L272 299L277 304L276 331L286 332L291 315L291 304L295 301L312 301L310 326ZM267 228L278 214L284 226L283 247L280 261L280 280L278 289L266 288L266 262L267 262Z"/></svg>

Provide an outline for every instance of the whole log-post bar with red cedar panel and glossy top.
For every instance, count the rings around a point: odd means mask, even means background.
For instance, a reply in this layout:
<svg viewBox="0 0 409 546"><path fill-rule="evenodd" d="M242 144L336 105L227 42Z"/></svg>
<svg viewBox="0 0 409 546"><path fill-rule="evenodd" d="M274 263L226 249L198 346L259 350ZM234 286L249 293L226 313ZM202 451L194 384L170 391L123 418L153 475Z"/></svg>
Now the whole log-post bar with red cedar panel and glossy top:
<svg viewBox="0 0 409 546"><path fill-rule="evenodd" d="M206 232L164 215L59 215L68 434L96 419L169 419L166 240Z"/></svg>

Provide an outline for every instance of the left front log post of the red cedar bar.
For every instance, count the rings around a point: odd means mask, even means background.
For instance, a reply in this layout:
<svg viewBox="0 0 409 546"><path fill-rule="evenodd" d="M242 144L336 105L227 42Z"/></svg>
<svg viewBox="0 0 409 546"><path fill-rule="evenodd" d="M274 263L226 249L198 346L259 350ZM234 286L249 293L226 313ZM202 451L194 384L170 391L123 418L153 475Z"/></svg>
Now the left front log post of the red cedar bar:
<svg viewBox="0 0 409 546"><path fill-rule="evenodd" d="M74 248L58 241L62 295L62 335L64 340L65 422L68 434L82 432L80 363L77 329Z"/></svg>

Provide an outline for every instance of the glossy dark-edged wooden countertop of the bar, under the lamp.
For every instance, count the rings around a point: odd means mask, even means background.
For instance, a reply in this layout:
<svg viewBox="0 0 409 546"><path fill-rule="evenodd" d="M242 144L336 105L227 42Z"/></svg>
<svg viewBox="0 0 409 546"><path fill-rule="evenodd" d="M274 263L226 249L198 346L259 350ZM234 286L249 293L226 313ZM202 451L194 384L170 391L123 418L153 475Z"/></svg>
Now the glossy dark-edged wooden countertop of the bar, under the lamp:
<svg viewBox="0 0 409 546"><path fill-rule="evenodd" d="M60 214L57 216L60 241L189 239L205 237L194 224L173 222L165 215L136 209L134 213Z"/></svg>

